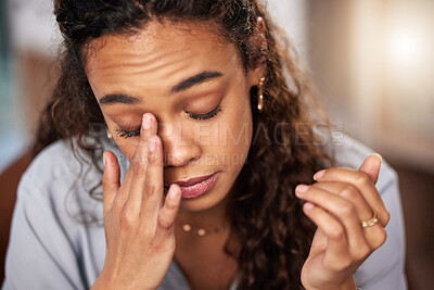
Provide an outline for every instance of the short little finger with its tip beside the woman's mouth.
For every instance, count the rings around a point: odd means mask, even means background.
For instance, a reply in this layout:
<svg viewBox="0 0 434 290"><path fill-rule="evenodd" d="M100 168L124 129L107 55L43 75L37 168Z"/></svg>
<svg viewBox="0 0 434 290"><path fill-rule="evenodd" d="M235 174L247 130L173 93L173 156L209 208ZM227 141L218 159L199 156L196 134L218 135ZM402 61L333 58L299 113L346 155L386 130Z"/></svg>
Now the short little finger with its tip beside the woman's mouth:
<svg viewBox="0 0 434 290"><path fill-rule="evenodd" d="M169 187L164 205L158 214L158 227L155 234L156 239L163 239L166 238L167 235L173 234L173 226L180 204L181 189L178 185L173 184Z"/></svg>

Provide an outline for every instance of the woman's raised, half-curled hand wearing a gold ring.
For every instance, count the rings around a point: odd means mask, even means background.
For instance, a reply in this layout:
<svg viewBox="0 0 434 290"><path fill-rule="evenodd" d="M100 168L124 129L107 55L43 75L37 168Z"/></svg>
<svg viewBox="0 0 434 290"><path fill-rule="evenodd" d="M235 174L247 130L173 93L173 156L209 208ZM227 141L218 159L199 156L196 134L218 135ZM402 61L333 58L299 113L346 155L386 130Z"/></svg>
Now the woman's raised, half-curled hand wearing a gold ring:
<svg viewBox="0 0 434 290"><path fill-rule="evenodd" d="M354 273L386 240L390 214L375 189L380 166L381 156L372 154L359 171L329 168L315 175L316 184L296 187L318 226L302 269L307 290L356 289ZM363 227L361 220L372 223Z"/></svg>

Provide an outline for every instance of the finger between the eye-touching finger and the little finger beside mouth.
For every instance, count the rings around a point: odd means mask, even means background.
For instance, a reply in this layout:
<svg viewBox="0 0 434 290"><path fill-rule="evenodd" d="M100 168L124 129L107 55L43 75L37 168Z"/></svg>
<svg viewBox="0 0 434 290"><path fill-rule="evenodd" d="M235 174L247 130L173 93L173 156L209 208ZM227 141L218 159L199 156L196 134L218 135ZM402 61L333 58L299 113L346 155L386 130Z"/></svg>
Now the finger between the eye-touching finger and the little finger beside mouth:
<svg viewBox="0 0 434 290"><path fill-rule="evenodd" d="M150 138L150 153L148 169L145 173L145 185L141 202L140 215L144 223L156 226L158 212L163 203L163 148L158 136Z"/></svg>

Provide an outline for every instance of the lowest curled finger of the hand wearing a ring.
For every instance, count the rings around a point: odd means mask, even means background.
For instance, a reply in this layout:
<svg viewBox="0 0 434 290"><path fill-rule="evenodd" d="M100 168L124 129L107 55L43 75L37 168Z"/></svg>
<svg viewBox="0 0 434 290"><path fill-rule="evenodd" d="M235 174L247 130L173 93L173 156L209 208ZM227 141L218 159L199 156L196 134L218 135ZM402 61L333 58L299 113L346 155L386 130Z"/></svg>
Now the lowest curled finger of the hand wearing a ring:
<svg viewBox="0 0 434 290"><path fill-rule="evenodd" d="M348 256L348 243L343 225L331 214L311 202L306 202L303 212L309 217L318 229L327 237L327 259L329 265L339 265L340 260Z"/></svg>

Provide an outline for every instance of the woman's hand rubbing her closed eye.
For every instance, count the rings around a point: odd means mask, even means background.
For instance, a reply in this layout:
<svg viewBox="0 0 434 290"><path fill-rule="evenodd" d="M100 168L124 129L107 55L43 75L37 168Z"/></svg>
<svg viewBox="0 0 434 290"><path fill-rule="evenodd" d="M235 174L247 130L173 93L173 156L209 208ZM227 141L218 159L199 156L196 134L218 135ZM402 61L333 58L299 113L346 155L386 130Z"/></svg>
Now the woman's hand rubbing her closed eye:
<svg viewBox="0 0 434 290"><path fill-rule="evenodd" d="M93 289L156 289L173 261L173 226L181 192L179 186L171 185L163 198L163 150L155 134L156 119L144 114L140 140L122 186L116 156L104 152L106 251Z"/></svg>

